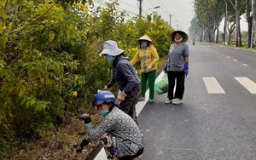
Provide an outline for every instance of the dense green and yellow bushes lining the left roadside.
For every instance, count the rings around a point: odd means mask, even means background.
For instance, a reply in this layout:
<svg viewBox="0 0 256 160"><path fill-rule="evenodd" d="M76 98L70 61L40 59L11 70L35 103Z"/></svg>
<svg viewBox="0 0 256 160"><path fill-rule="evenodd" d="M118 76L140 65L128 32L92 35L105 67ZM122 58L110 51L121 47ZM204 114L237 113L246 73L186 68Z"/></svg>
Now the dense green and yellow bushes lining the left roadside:
<svg viewBox="0 0 256 160"><path fill-rule="evenodd" d="M104 41L117 41L131 58L137 38L147 34L160 54L161 71L172 28L158 14L126 20L117 5L0 0L0 159L84 159L90 154L98 142L79 155L73 145L86 136L81 113L90 113L94 125L102 119L91 101L111 79L111 64L98 55Z"/></svg>

